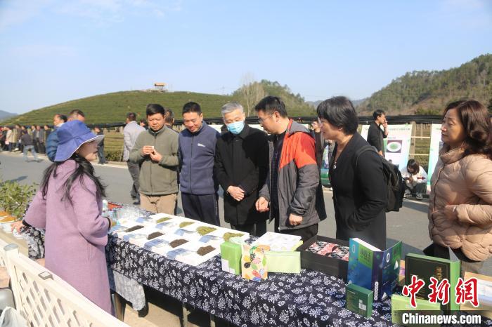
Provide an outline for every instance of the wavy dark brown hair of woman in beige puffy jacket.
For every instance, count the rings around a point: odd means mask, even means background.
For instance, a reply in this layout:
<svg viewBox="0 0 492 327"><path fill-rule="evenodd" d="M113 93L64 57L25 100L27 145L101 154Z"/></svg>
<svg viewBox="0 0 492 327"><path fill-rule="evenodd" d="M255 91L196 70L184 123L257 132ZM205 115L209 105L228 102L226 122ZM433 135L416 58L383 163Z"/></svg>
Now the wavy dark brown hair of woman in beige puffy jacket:
<svg viewBox="0 0 492 327"><path fill-rule="evenodd" d="M492 124L486 107L476 100L460 100L447 105L444 114L451 109L456 109L465 128L465 156L485 154L492 159Z"/></svg>

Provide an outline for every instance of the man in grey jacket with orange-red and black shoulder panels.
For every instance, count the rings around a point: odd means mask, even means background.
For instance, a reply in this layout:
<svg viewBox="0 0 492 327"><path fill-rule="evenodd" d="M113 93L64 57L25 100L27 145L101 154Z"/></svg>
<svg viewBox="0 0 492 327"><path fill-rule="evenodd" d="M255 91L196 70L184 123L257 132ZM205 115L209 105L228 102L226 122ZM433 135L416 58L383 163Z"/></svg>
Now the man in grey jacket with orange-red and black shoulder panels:
<svg viewBox="0 0 492 327"><path fill-rule="evenodd" d="M254 110L268 139L269 172L256 207L270 212L275 232L301 236L307 241L318 234L326 218L314 138L309 130L289 119L280 98L268 96Z"/></svg>

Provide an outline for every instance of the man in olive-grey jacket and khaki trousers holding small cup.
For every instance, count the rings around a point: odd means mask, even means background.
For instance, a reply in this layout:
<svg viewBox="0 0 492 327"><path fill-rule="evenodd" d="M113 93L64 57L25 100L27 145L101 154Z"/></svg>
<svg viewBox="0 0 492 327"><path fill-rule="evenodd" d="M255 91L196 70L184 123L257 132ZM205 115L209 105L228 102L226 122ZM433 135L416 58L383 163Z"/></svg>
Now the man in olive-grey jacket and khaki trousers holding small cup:
<svg viewBox="0 0 492 327"><path fill-rule="evenodd" d="M178 134L164 126L164 108L147 106L148 131L136 138L130 161L141 165L141 208L153 213L174 214L178 198Z"/></svg>

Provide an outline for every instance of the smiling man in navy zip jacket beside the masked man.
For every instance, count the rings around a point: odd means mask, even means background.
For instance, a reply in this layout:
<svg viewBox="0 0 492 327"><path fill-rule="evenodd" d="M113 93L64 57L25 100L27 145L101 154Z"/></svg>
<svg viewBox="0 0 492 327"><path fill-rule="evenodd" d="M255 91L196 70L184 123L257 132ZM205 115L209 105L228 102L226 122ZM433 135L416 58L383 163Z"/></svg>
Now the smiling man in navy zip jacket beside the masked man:
<svg viewBox="0 0 492 327"><path fill-rule="evenodd" d="M179 183L184 214L219 226L214 156L220 134L203 121L202 109L196 102L184 105L183 124L186 129L179 133Z"/></svg>

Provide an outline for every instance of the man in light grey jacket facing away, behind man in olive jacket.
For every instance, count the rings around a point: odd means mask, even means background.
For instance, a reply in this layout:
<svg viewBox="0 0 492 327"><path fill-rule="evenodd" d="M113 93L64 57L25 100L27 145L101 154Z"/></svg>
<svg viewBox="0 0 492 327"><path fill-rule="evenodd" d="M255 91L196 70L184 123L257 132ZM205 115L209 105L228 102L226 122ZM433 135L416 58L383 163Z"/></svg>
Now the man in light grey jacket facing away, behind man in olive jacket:
<svg viewBox="0 0 492 327"><path fill-rule="evenodd" d="M134 180L134 184L131 186L130 190L131 199L135 200L134 204L140 204L140 194L138 194L138 175L140 174L140 166L138 163L130 161L130 152L135 146L136 138L142 132L145 132L145 128L138 125L136 122L136 114L134 112L129 112L127 114L127 126L124 126L123 128L123 161L127 162L131 179Z"/></svg>

